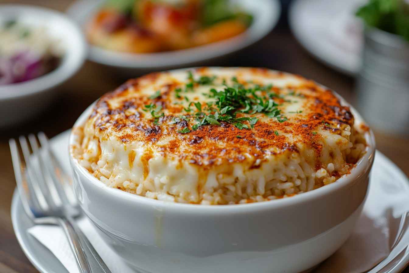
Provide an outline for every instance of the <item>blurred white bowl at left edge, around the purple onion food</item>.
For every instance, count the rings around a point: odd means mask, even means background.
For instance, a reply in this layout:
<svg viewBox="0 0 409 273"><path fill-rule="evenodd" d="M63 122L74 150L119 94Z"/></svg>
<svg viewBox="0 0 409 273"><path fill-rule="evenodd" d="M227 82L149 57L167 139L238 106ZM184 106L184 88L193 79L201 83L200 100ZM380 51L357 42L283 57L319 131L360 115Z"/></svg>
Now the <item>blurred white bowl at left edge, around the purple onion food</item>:
<svg viewBox="0 0 409 273"><path fill-rule="evenodd" d="M41 77L0 86L0 127L36 115L56 95L54 88L79 70L86 43L81 30L67 16L51 9L25 5L0 5L0 23L16 18L31 26L46 26L47 34L61 41L65 54L60 65Z"/></svg>

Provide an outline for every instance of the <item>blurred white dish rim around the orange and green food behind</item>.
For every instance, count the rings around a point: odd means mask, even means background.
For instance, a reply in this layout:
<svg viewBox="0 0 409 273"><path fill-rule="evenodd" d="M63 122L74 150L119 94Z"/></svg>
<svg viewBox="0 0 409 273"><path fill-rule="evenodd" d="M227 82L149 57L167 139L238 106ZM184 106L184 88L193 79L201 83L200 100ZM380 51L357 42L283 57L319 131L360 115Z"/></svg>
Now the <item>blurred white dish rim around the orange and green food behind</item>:
<svg viewBox="0 0 409 273"><path fill-rule="evenodd" d="M81 26L84 26L104 0L78 0L67 10ZM278 0L234 0L240 7L254 15L254 21L246 32L220 42L185 50L150 54L130 54L90 46L88 58L94 62L119 68L147 69L171 68L198 63L243 49L260 40L276 25L281 6Z"/></svg>

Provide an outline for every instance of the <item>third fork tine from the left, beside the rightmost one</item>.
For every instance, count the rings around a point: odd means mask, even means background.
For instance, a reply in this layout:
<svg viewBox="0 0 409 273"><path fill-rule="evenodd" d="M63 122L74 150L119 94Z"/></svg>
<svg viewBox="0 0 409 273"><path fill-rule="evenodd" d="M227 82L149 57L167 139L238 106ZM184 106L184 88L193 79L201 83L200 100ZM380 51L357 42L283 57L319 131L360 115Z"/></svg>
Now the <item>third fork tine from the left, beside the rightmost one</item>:
<svg viewBox="0 0 409 273"><path fill-rule="evenodd" d="M56 189L54 181L50 177L49 172L47 171L45 167L45 163L43 161L41 151L40 149L38 149L38 142L37 142L36 136L34 134L29 134L28 139L31 144L31 149L33 150L33 155L37 158L37 161L40 165L40 168L39 168L40 178L39 179L43 178L42 181L44 182L43 185L45 186L44 190L47 194L49 194L49 197L51 198L52 203L56 205L56 207L60 207L62 204L61 198L58 194L58 190Z"/></svg>

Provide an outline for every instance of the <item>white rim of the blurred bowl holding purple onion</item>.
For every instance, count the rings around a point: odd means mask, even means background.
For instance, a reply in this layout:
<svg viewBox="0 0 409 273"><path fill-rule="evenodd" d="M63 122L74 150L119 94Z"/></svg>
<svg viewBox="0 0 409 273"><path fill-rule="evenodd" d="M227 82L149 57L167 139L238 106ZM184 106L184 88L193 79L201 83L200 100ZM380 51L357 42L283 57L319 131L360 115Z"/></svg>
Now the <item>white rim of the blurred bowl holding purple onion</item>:
<svg viewBox="0 0 409 273"><path fill-rule="evenodd" d="M87 53L87 45L81 29L65 14L47 9L43 7L31 5L14 5L4 4L0 5L0 14L24 14L30 13L34 16L53 16L57 22L61 22L65 26L65 31L71 32L76 38L65 39L64 43L68 43L65 47L75 46L75 50L67 51L61 57L61 63L58 67L35 79L20 83L11 83L0 86L0 99L14 99L18 97L33 95L35 93L44 92L63 83L72 77L82 66L85 61ZM68 26L68 27L67 27ZM61 36L63 40L64 36ZM75 52L74 52L75 51Z"/></svg>

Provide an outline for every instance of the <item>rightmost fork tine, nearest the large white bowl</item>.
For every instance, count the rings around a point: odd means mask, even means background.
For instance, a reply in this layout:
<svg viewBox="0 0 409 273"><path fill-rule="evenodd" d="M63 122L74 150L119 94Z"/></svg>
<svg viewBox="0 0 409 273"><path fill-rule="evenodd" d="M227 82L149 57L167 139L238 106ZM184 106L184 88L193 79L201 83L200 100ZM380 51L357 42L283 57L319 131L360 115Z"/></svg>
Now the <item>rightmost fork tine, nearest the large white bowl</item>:
<svg viewBox="0 0 409 273"><path fill-rule="evenodd" d="M77 206L78 203L72 190L72 183L70 183L71 179L69 176L67 176L63 167L61 166L61 163L57 160L53 151L50 149L47 136L45 133L39 132L37 137L38 140L40 140L41 147L45 150L45 162L49 162L49 164L47 164L48 171L52 176L54 183L58 185L60 197L62 197L64 201L67 201L70 205Z"/></svg>

